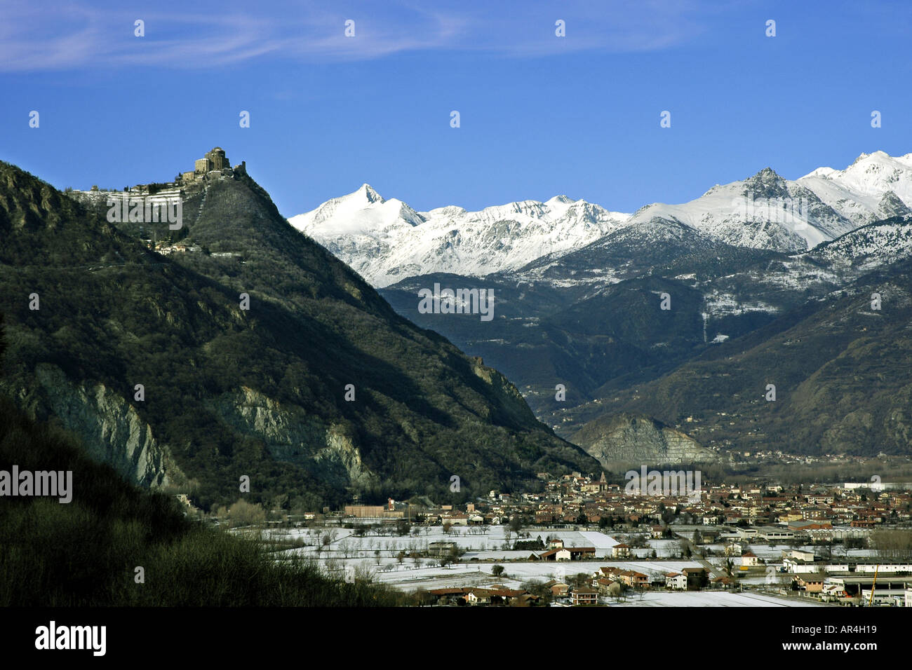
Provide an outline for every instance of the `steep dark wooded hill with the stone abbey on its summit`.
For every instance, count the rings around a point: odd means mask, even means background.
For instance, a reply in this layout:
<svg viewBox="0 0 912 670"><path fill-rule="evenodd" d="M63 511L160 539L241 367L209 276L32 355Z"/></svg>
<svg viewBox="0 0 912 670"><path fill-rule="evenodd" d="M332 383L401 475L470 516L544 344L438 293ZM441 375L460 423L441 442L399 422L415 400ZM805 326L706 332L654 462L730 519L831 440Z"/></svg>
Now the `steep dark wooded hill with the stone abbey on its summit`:
<svg viewBox="0 0 912 670"><path fill-rule="evenodd" d="M59 417L126 475L195 484L203 507L236 500L241 475L254 501L288 493L313 509L355 492L452 499L453 474L466 498L596 469L503 376L292 229L253 180L213 180L189 201L184 241L205 248L161 256L113 230L106 207L0 165L4 387L20 407Z"/></svg>

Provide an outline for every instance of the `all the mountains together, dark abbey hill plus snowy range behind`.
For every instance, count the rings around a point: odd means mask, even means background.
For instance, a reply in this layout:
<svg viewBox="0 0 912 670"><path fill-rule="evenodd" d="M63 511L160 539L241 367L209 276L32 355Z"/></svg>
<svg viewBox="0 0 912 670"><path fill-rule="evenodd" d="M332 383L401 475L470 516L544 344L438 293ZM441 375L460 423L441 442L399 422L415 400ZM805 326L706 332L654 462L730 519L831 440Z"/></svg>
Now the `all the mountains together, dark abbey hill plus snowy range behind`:
<svg viewBox="0 0 912 670"><path fill-rule="evenodd" d="M630 215L420 212L364 185L286 220L246 170L130 190L180 197L178 230L0 163L0 392L203 509L244 477L313 510L741 451L908 454L910 156ZM484 289L494 318L420 310L435 284Z"/></svg>

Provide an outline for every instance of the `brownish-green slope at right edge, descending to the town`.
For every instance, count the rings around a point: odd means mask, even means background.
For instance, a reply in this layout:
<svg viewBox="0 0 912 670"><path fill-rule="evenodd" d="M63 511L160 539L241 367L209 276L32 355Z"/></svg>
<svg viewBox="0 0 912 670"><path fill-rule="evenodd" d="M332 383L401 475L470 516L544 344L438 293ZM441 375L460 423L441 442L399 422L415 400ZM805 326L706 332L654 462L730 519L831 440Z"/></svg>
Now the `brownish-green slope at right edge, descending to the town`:
<svg viewBox="0 0 912 670"><path fill-rule="evenodd" d="M912 444L912 262L871 273L730 340L656 381L606 397L603 418L687 424L704 445L873 455ZM871 309L871 294L882 309ZM776 400L764 398L767 384ZM595 407L586 407L595 411ZM724 413L724 414L722 414Z"/></svg>

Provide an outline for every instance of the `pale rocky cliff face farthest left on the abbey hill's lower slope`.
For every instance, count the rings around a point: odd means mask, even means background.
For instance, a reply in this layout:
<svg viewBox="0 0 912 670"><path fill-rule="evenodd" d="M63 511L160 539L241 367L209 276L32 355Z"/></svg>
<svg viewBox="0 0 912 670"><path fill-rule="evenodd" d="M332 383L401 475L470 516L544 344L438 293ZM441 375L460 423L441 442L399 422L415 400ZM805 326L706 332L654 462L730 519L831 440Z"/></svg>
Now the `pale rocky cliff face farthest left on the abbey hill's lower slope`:
<svg viewBox="0 0 912 670"><path fill-rule="evenodd" d="M186 478L171 451L152 435L133 407L103 384L75 384L50 364L36 366L47 409L82 438L93 459L109 463L140 486L179 484Z"/></svg>

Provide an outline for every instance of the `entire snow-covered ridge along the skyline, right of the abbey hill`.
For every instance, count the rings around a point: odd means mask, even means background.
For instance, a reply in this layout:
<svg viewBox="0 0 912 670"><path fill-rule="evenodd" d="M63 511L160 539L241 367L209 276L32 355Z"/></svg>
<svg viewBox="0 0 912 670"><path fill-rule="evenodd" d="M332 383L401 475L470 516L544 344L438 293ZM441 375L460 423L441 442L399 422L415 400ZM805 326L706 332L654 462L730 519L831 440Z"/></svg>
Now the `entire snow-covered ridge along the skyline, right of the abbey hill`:
<svg viewBox="0 0 912 670"><path fill-rule="evenodd" d="M912 153L875 151L845 170L817 168L797 180L765 168L696 200L652 203L633 214L565 195L480 211L454 205L415 211L363 184L288 221L383 287L427 273L484 276L538 259L556 263L626 228L644 243L649 230L672 224L734 246L803 253L871 222L909 215Z"/></svg>

